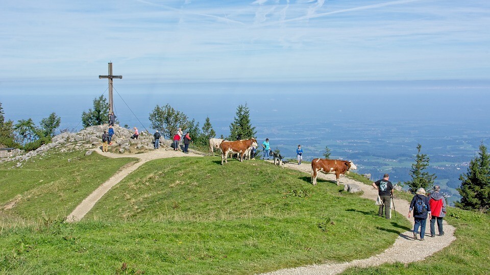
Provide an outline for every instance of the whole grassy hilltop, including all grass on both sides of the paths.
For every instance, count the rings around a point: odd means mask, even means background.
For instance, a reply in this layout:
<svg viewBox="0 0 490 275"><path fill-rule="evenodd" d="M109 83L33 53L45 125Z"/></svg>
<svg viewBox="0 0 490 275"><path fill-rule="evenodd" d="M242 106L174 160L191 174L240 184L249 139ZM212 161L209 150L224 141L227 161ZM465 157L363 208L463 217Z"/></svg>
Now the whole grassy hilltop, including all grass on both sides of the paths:
<svg viewBox="0 0 490 275"><path fill-rule="evenodd" d="M254 160L222 166L216 157L145 163L82 221L64 222L132 161L53 152L21 168L0 163L0 206L15 203L0 208L0 273L254 274L367 258L410 229L401 215L379 218L372 201L333 182L312 186L305 173ZM451 211L458 239L408 270L488 273L488 216ZM432 268L434 261L444 268Z"/></svg>

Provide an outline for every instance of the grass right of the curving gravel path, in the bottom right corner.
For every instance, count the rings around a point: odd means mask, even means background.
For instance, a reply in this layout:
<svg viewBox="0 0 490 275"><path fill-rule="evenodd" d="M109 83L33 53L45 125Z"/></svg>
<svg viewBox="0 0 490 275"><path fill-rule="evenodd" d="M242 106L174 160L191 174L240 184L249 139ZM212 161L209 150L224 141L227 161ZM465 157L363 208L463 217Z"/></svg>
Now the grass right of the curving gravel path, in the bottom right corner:
<svg viewBox="0 0 490 275"><path fill-rule="evenodd" d="M490 216L449 208L446 220L456 228L456 240L426 260L351 268L342 274L490 274Z"/></svg>

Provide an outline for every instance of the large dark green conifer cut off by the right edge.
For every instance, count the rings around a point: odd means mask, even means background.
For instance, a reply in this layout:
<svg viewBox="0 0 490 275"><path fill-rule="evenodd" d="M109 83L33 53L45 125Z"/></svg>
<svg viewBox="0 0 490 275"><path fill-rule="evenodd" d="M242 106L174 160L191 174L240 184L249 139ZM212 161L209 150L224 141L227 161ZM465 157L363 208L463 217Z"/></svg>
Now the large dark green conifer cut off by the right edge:
<svg viewBox="0 0 490 275"><path fill-rule="evenodd" d="M490 208L490 155L485 145L480 144L480 152L470 161L468 172L459 176L461 187L457 188L461 201L457 207L486 211Z"/></svg>

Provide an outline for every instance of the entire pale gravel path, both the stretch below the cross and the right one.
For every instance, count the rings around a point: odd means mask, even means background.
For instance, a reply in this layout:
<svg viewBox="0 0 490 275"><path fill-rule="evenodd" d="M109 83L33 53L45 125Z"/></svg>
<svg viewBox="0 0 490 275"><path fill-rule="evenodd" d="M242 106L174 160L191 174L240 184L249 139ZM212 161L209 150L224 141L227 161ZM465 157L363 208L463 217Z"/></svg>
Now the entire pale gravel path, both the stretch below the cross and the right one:
<svg viewBox="0 0 490 275"><path fill-rule="evenodd" d="M83 202L77 206L77 208L67 216L66 220L69 222L76 222L82 219L85 214L92 209L97 201L99 201L102 196L109 191L114 185L119 183L128 174L136 170L139 166L144 163L161 158L173 158L173 157L202 157L203 154L200 152L189 152L189 154L183 154L181 151L166 151L165 149L158 149L155 151L150 151L143 154L113 154L113 153L102 153L100 149L94 149L94 152L109 157L109 158L138 158L139 161L129 163L116 172L108 181L103 183L99 188L93 191ZM271 162L271 161L269 161ZM271 162L272 163L272 162ZM284 168L295 169L311 175L311 164L303 163L301 165L287 163L283 166ZM278 169L281 169L278 167ZM318 178L323 180L331 181L331 184L335 184L335 175L318 173ZM364 192L362 197L372 199L373 201L377 198L377 190L370 185L366 185L346 177L340 178L341 184L357 184L360 186ZM320 183L320 184L330 184L330 183ZM395 198L395 207L397 212L405 217L408 215L409 202L403 199ZM373 209L377 209L373 203ZM409 218L413 226L413 218ZM383 263L411 263L416 261L424 260L430 255L440 251L444 247L448 246L456 238L454 237L455 228L447 224L444 221L444 236L436 235L434 238L429 236L429 222L427 222L426 237L425 241L413 240L413 235L411 231L406 231L398 236L395 243L388 247L381 254L372 256L367 259L354 260L351 262L344 263L325 263L325 264L315 264L307 265L295 268L280 269L273 272L265 273L266 275L283 275L283 274L297 274L297 275L316 275L316 274L338 274L346 270L349 267L369 267L378 266Z"/></svg>

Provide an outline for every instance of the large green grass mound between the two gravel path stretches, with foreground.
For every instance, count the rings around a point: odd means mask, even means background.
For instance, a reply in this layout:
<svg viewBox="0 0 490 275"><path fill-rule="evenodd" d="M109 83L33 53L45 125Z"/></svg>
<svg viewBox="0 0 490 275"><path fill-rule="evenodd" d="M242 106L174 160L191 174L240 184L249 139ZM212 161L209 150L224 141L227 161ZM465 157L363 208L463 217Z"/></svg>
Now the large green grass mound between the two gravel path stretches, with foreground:
<svg viewBox="0 0 490 275"><path fill-rule="evenodd" d="M263 161L219 163L151 161L81 222L4 228L0 272L114 274L124 262L128 273L252 274L366 258L410 228L334 182L312 186L309 174Z"/></svg>

